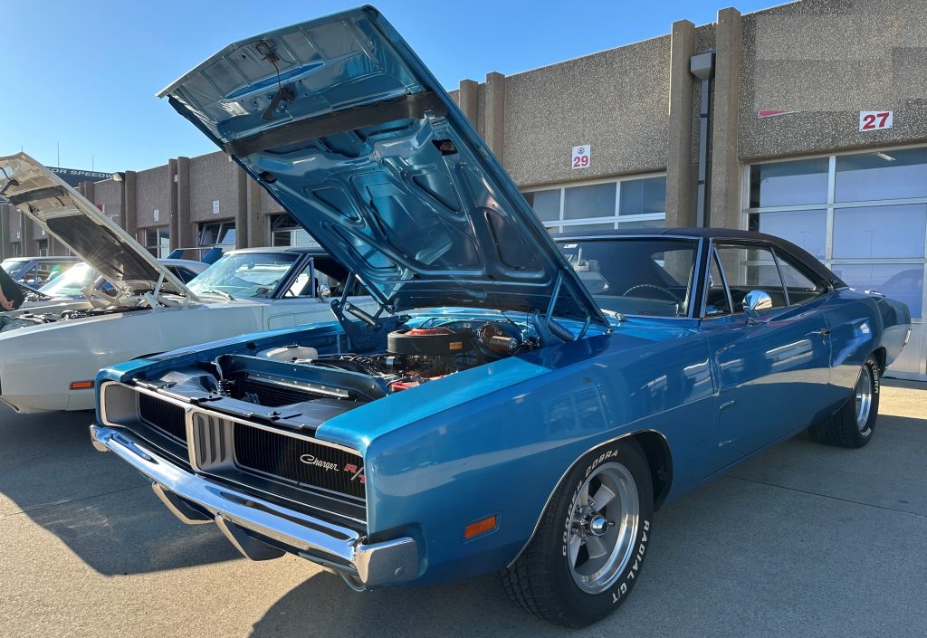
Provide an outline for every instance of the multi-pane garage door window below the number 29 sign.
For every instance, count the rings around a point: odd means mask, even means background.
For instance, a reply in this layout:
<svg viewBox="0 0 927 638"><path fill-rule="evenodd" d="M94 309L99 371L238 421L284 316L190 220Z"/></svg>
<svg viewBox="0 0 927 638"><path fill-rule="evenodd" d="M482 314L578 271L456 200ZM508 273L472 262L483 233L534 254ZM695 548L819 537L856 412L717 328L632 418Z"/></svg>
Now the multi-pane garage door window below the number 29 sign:
<svg viewBox="0 0 927 638"><path fill-rule="evenodd" d="M552 233L663 228L667 177L628 178L528 190L525 198Z"/></svg>

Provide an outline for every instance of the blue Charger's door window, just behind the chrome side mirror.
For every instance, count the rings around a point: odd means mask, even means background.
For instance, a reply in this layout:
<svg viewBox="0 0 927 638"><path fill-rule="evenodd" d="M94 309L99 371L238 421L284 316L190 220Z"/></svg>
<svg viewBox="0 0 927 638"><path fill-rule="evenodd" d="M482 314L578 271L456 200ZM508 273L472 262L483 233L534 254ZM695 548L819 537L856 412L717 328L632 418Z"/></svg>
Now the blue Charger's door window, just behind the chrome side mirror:
<svg viewBox="0 0 927 638"><path fill-rule="evenodd" d="M773 308L787 305L785 287L782 286L771 249L745 244L720 244L717 246L717 254L728 279L734 312L743 311L743 298L751 290L766 292L772 298Z"/></svg>

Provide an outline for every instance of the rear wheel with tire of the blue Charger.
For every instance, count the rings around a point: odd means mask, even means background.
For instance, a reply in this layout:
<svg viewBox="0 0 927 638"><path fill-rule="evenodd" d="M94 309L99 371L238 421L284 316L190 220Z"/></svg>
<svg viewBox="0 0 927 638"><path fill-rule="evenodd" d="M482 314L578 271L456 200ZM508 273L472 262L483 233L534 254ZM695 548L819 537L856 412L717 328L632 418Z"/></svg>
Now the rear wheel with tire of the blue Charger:
<svg viewBox="0 0 927 638"><path fill-rule="evenodd" d="M870 354L859 369L853 394L835 414L808 427L811 438L844 448L861 448L870 442L879 418L879 382L879 363Z"/></svg>

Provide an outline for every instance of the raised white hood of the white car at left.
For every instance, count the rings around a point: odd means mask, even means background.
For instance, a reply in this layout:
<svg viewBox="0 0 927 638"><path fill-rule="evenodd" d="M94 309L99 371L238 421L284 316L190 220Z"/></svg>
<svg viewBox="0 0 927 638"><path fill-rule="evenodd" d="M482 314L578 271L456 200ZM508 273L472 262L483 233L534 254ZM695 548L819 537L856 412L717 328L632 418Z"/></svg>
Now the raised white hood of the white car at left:
<svg viewBox="0 0 927 638"><path fill-rule="evenodd" d="M48 235L89 263L122 294L159 289L197 300L183 282L132 236L29 155L0 157L0 170L4 197Z"/></svg>

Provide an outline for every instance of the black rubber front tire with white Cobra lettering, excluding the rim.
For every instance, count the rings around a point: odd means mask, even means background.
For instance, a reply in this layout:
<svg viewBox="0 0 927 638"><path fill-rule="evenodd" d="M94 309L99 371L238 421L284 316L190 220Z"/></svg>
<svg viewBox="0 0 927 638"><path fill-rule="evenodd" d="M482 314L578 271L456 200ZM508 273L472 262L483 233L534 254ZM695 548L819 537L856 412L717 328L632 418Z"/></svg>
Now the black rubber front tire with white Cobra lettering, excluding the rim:
<svg viewBox="0 0 927 638"><path fill-rule="evenodd" d="M627 564L601 593L578 587L569 567L567 543L572 512L586 479L597 467L620 464L629 471L639 503L637 533ZM603 619L625 601L641 575L654 517L650 467L634 440L603 445L586 454L567 473L541 518L534 538L511 568L501 572L502 586L513 602L540 619L565 627L584 627Z"/></svg>

